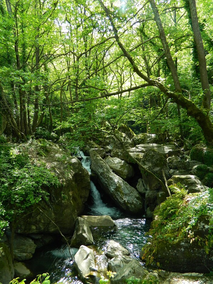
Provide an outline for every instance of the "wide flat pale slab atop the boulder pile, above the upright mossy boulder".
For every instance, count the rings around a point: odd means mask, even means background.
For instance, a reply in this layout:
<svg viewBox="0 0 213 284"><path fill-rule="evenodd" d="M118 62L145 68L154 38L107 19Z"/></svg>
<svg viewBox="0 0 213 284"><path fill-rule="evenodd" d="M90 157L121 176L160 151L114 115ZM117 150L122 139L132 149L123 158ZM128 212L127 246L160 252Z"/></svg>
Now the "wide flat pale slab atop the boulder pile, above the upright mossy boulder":
<svg viewBox="0 0 213 284"><path fill-rule="evenodd" d="M136 145L134 148L131 148L128 150L130 154L132 153L139 153L139 154L144 154L146 150L148 149L154 149L161 153L164 156L173 156L178 154L178 150L174 145L161 145L161 144L139 144Z"/></svg>

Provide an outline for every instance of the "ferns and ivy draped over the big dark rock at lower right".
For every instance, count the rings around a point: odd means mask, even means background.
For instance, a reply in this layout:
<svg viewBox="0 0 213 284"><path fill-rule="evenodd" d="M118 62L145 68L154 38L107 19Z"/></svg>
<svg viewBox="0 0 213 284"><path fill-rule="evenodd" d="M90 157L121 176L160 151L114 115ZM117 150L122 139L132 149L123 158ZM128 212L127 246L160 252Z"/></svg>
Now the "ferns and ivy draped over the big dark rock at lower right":
<svg viewBox="0 0 213 284"><path fill-rule="evenodd" d="M147 233L152 236L145 245L143 257L148 259L148 263L154 260L155 249L161 242L176 243L186 238L190 242L196 241L206 253L213 245L213 189L187 194L186 189L177 184L171 185L170 190L174 194L167 197L156 210L156 218ZM208 226L208 233L204 237L194 233L202 221Z"/></svg>

